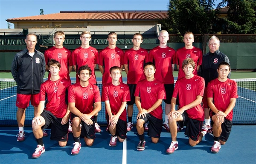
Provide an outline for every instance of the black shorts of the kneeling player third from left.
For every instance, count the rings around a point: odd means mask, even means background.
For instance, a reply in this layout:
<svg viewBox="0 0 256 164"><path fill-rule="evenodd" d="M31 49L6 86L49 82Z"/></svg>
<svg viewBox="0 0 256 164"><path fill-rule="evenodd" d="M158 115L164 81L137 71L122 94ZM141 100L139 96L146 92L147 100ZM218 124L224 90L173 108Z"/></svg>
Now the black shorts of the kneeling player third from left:
<svg viewBox="0 0 256 164"><path fill-rule="evenodd" d="M109 120L108 114L106 114L106 119ZM107 121L109 124L109 121ZM126 139L126 133L127 133L127 123L126 121L122 119L118 119L116 124L116 136L118 136L120 139Z"/></svg>

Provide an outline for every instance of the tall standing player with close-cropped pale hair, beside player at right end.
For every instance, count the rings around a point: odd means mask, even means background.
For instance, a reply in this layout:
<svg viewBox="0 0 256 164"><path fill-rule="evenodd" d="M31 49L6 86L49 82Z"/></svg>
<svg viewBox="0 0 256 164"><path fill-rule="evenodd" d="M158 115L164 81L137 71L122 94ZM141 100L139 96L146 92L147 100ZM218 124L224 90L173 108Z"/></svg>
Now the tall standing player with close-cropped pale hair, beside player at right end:
<svg viewBox="0 0 256 164"><path fill-rule="evenodd" d="M168 125L168 113L171 110L171 99L174 88L174 63L175 63L175 50L167 46L169 40L169 34L167 31L160 31L159 37L160 45L153 48L149 52L148 61L153 62L156 65L155 78L163 82L166 90L165 102L165 123L163 127L169 132Z"/></svg>

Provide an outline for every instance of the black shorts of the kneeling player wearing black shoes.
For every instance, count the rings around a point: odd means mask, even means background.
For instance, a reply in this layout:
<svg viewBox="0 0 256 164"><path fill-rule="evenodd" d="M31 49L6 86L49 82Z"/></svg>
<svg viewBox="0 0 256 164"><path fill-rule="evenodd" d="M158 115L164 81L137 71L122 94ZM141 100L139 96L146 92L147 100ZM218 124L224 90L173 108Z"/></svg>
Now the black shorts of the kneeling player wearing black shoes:
<svg viewBox="0 0 256 164"><path fill-rule="evenodd" d="M140 119L143 119L143 117L140 117ZM148 136L159 139L162 131L163 119L157 119L156 117L147 113L143 120L145 122L149 121Z"/></svg>

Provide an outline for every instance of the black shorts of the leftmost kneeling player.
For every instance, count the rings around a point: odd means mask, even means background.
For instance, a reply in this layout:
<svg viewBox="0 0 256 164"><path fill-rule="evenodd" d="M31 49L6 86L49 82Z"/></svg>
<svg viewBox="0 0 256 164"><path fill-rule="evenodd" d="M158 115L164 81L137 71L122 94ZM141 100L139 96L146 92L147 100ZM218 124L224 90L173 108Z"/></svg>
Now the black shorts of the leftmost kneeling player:
<svg viewBox="0 0 256 164"><path fill-rule="evenodd" d="M42 127L42 129L45 129L51 125L51 139L63 142L67 141L69 122L64 125L61 124L62 118L55 117L48 110L44 110L41 113L41 116L44 117L45 120L45 125Z"/></svg>

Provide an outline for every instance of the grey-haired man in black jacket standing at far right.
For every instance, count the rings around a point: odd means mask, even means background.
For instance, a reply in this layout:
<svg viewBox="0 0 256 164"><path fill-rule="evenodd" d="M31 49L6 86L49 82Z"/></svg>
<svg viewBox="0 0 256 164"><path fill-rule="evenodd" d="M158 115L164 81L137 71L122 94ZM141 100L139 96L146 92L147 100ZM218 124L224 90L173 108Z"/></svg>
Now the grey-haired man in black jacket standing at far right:
<svg viewBox="0 0 256 164"><path fill-rule="evenodd" d="M212 131L212 127L210 125L210 116L209 116L209 108L207 104L206 88L207 88L208 82L218 77L218 72L217 72L218 65L221 62L227 62L230 64L228 57L219 50L219 47L220 47L220 40L218 39L218 37L212 36L209 39L210 51L207 54L204 54L202 65L200 66L200 69L198 71L198 75L203 77L205 81L205 90L204 90L204 98L203 98L205 124L203 125L203 127L207 127L209 133ZM230 78L230 74L227 77Z"/></svg>

